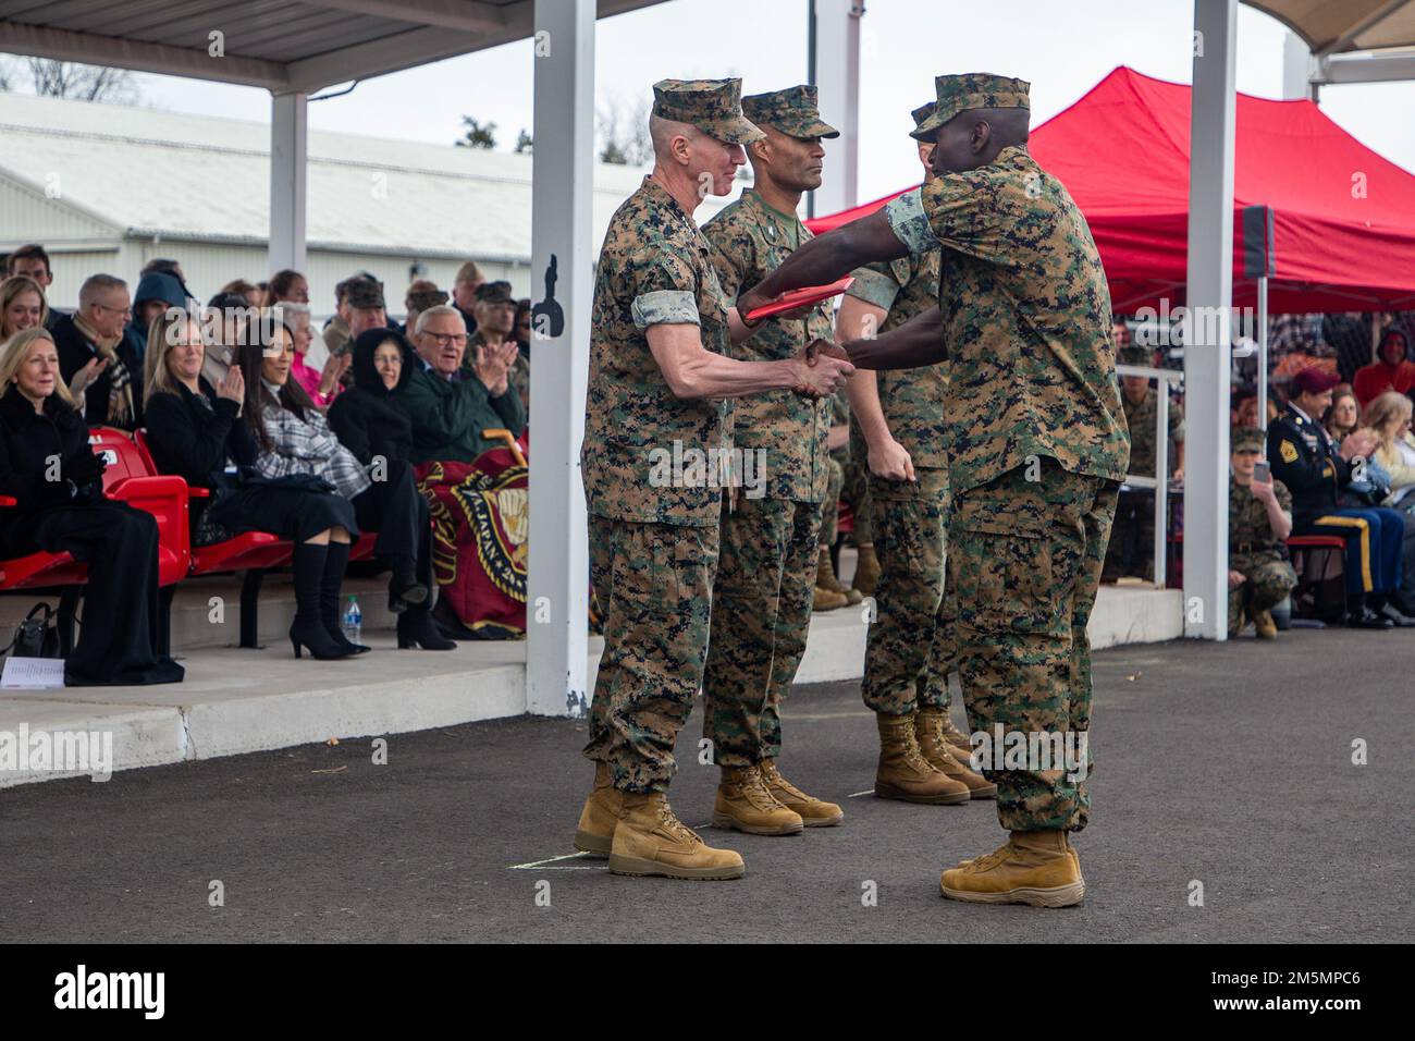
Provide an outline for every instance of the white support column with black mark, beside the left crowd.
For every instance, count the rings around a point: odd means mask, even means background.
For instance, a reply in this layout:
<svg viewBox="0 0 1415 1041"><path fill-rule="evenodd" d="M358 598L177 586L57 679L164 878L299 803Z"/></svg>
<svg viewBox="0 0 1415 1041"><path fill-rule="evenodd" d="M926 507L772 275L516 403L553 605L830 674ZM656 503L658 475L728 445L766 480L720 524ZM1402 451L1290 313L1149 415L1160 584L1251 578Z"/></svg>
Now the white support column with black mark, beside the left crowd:
<svg viewBox="0 0 1415 1041"><path fill-rule="evenodd" d="M584 385L590 361L594 0L535 0L526 711L589 705Z"/></svg>

